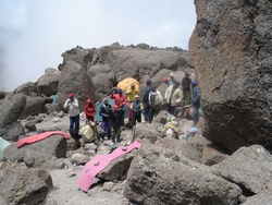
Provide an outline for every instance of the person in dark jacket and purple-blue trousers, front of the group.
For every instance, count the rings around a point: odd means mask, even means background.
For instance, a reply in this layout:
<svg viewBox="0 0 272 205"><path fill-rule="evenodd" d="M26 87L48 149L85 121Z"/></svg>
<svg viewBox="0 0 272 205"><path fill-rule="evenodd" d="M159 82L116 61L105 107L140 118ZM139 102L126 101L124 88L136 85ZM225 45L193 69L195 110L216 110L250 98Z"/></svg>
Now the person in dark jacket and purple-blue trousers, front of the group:
<svg viewBox="0 0 272 205"><path fill-rule="evenodd" d="M111 109L112 106L108 102L108 98L103 98L102 104L100 105L99 116L102 117L101 128L104 132L107 132L109 140L111 138ZM104 136L102 136L101 140L103 141Z"/></svg>

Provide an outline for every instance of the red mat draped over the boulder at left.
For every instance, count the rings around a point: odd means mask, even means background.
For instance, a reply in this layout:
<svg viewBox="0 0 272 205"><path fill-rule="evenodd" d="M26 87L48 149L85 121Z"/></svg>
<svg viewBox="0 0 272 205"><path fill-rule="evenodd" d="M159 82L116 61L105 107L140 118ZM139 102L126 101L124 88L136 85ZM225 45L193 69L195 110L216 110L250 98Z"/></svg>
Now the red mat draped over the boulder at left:
<svg viewBox="0 0 272 205"><path fill-rule="evenodd" d="M39 141L41 141L48 136L51 136L51 135L62 135L65 138L70 138L70 134L66 132L62 132L62 131L44 132L40 134L36 134L36 135L32 135L32 136L27 136L27 137L18 140L17 141L17 148L20 148L24 145L39 142Z"/></svg>

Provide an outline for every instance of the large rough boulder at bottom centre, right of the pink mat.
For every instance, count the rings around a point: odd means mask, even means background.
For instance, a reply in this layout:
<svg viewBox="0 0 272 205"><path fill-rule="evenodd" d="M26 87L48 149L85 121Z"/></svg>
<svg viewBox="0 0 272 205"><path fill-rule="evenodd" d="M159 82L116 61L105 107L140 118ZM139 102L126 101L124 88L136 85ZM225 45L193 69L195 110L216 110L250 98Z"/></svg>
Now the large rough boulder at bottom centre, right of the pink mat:
<svg viewBox="0 0 272 205"><path fill-rule="evenodd" d="M236 204L242 190L171 148L141 147L128 169L124 195L136 204Z"/></svg>

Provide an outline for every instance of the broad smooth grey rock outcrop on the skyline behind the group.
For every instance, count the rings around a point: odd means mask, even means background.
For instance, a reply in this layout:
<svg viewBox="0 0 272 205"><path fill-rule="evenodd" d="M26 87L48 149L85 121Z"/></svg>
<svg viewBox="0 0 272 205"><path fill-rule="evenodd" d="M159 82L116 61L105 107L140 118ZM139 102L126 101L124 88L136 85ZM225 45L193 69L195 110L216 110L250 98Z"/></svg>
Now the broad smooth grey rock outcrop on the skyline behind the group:
<svg viewBox="0 0 272 205"><path fill-rule="evenodd" d="M161 69L177 71L188 69L187 60L183 57L186 51L150 50L145 47L131 48L118 45L104 46L95 50L89 69L97 64L109 64L115 73L113 84L134 77L137 81L143 75L153 76Z"/></svg>

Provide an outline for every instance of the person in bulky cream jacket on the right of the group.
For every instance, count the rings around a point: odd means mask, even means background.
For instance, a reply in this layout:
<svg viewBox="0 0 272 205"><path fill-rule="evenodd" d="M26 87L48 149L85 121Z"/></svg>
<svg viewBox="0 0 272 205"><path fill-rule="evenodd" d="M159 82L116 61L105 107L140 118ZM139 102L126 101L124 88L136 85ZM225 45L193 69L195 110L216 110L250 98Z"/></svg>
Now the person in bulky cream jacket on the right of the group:
<svg viewBox="0 0 272 205"><path fill-rule="evenodd" d="M178 81L174 81L174 84L165 91L166 110L172 116L175 116L176 106L178 106L183 99L183 92L178 88L180 85L181 83Z"/></svg>

